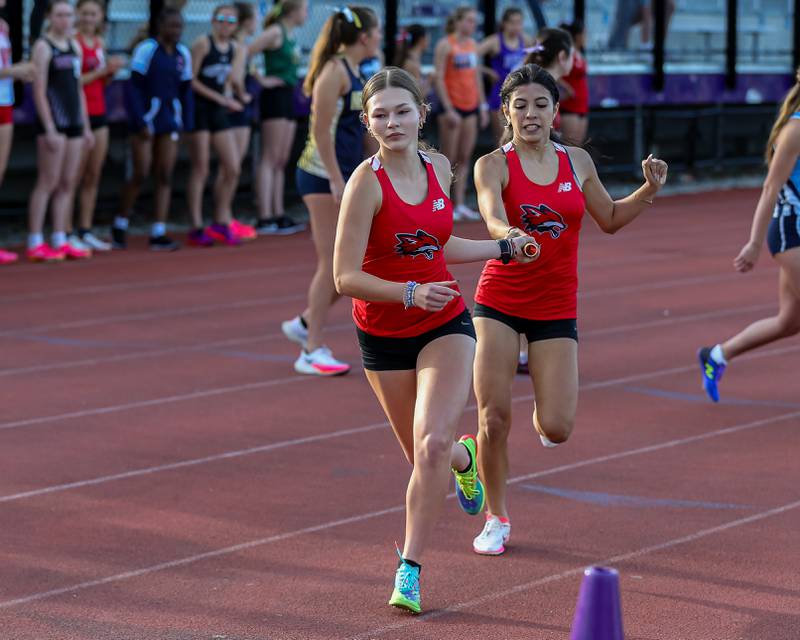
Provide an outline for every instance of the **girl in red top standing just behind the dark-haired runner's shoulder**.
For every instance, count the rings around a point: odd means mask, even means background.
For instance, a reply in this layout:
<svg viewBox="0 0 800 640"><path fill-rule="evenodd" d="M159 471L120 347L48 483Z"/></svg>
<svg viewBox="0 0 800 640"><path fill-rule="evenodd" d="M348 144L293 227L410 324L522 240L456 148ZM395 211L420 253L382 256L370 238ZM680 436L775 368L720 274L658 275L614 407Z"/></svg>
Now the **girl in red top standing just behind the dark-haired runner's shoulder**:
<svg viewBox="0 0 800 640"><path fill-rule="evenodd" d="M586 30L580 20L562 24L561 28L572 36L575 49L572 69L559 82L563 96L559 106L561 135L565 143L580 147L586 141L589 128L589 80L584 57Z"/></svg>

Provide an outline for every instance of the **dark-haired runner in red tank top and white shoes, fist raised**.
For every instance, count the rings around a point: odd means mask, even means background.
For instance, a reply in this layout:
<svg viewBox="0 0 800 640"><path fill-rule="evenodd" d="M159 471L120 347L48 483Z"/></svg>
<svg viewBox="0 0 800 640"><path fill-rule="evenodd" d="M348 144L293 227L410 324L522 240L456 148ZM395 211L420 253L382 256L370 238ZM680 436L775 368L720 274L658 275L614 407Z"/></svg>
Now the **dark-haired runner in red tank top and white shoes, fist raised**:
<svg viewBox="0 0 800 640"><path fill-rule="evenodd" d="M558 111L553 77L534 64L509 74L500 92L506 144L475 165L478 204L493 238L529 233L541 257L529 265L486 263L475 294L475 395L479 470L487 519L473 542L477 553L503 553L511 525L506 509L511 385L519 337L528 342L536 392L533 425L555 446L572 431L578 400L578 235L584 210L606 233L633 221L653 203L667 165L642 162L645 184L612 200L586 151L550 140Z"/></svg>

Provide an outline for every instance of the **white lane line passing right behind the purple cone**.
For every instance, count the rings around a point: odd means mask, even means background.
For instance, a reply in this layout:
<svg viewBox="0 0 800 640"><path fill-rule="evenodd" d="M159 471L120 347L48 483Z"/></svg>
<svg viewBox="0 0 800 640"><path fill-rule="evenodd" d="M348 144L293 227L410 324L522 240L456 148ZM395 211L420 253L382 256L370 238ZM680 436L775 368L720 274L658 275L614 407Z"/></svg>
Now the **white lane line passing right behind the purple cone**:
<svg viewBox="0 0 800 640"><path fill-rule="evenodd" d="M479 596L478 598L474 598L472 600L468 600L465 602L459 602L457 604L450 605L449 607L445 607L444 609L431 611L430 613L424 613L421 616L416 616L414 618L408 616L402 622L397 622L394 624L377 627L370 631L365 631L364 633L352 636L350 640L372 640L372 638L375 638L376 636L384 635L386 633L389 633L390 631L397 631L399 629L403 629L411 625L417 625L421 621L435 620L436 618L441 618L442 616L446 616L452 613L457 613L464 609L471 609L473 607L477 607L486 604L488 602L492 602L493 600L499 600L500 598L505 598L519 593L524 593L525 591L530 591L531 589L535 589L536 587L540 587L550 582L557 582L559 580L563 580L564 578L578 576L583 573L586 566L590 565L609 566L609 565L616 565L621 562L627 562L628 560L640 558L642 556L646 556L651 553L664 551L666 549L671 549L673 547L677 547L682 544L695 542L697 540L701 540L708 536L713 536L718 533L723 533L725 531L728 531L730 529L735 529L736 527L741 527L747 524L752 524L753 522L759 522L767 518L772 518L774 516L778 516L787 513L789 511L792 511L794 509L797 509L798 507L800 507L800 500L796 502L789 502L779 507L775 507L774 509L768 509L766 511L762 511L760 513L756 513L751 516L747 516L746 518L738 518L736 520L731 520L730 522L726 522L716 527L701 529L700 531L695 531L694 533L690 533L688 535L681 536L679 538L672 538L671 540L667 540L659 544L650 545L648 547L641 547L633 551L620 553L619 555L616 556L603 558L602 560L587 562L586 564L580 567L574 567L572 569L562 571L561 573L553 573L550 574L549 576L537 578L536 580L531 580L530 582L523 582L521 584L514 585L513 587L509 587L507 589L486 593L482 596Z"/></svg>

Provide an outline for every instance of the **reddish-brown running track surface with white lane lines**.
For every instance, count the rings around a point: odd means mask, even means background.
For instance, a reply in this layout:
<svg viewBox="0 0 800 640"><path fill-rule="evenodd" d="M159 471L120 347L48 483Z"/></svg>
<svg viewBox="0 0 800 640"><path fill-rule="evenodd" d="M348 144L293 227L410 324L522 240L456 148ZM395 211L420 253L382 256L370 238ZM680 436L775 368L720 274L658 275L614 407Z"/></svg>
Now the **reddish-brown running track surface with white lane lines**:
<svg viewBox="0 0 800 640"><path fill-rule="evenodd" d="M587 218L573 437L540 446L518 376L509 550L474 555L448 499L422 618L386 605L409 467L362 371L297 376L280 335L307 234L3 269L0 636L564 639L606 564L629 640L798 637L800 342L737 360L719 405L695 361L776 308L767 255L731 266L756 200L662 198L613 237ZM453 271L470 299L478 266ZM349 303L330 321L357 363Z"/></svg>

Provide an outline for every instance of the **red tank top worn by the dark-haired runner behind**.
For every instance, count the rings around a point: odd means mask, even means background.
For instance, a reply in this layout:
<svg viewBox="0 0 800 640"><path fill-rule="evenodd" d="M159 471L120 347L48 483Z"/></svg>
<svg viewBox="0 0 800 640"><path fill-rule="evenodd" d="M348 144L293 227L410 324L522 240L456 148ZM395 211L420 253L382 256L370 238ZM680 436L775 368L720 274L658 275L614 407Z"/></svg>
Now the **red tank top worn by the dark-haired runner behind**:
<svg viewBox="0 0 800 640"><path fill-rule="evenodd" d="M567 150L553 143L558 175L547 185L528 179L512 143L503 147L508 185L503 189L508 222L536 238L539 259L528 264L489 260L475 301L510 316L560 320L578 314L578 233L586 209Z"/></svg>

